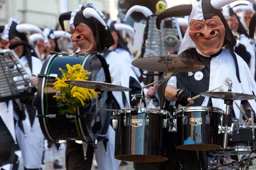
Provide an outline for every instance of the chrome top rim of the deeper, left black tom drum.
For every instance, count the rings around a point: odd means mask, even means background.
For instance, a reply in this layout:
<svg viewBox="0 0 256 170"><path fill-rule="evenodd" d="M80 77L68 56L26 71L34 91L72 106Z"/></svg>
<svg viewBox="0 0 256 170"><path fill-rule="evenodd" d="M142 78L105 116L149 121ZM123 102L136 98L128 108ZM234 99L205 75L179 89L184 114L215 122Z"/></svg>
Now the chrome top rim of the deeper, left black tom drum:
<svg viewBox="0 0 256 170"><path fill-rule="evenodd" d="M114 115L119 115L119 114L124 114L125 111L135 111L135 109L133 108L123 108L123 109L119 109L117 111L114 112ZM143 112L148 112L148 113L153 113L153 114L170 114L169 111L167 110L163 110L163 109L155 109L155 108L137 108L137 111L143 111ZM130 113L130 112L126 112L126 113Z"/></svg>

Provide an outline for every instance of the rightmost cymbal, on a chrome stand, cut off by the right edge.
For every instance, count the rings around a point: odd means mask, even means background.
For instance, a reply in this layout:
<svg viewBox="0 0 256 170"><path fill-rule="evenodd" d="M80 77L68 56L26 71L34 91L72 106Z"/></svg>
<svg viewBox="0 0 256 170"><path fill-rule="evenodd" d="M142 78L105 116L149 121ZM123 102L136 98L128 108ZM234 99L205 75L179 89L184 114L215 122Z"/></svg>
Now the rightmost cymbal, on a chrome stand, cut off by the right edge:
<svg viewBox="0 0 256 170"><path fill-rule="evenodd" d="M251 94L244 94L244 93L233 93L233 92L202 92L200 93L202 96L209 97L209 98L219 98L226 101L234 101L234 100L251 100L256 99L256 95Z"/></svg>

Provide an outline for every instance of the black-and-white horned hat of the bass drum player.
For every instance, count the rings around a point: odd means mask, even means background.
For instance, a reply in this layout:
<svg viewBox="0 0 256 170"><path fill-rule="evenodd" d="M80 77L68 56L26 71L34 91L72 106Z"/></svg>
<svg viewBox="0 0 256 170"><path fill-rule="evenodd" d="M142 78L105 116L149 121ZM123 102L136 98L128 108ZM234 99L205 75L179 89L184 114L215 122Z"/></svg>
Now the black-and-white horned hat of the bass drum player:
<svg viewBox="0 0 256 170"><path fill-rule="evenodd" d="M99 52L114 44L109 27L104 20L104 15L96 10L92 3L88 3L86 6L80 4L77 10L61 14L59 16L59 24L63 31L65 31L64 20L70 20L70 27L72 28L76 28L79 23L89 26L98 43L97 50Z"/></svg>

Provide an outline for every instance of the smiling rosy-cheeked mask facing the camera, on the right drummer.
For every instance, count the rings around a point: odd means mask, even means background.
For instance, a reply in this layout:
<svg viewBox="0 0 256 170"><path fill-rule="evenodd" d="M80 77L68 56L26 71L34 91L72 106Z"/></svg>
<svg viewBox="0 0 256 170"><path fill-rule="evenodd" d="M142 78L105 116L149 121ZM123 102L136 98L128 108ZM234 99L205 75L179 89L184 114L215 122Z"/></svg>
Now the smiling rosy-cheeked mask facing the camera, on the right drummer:
<svg viewBox="0 0 256 170"><path fill-rule="evenodd" d="M218 16L190 22L189 36L204 55L218 53L224 42L225 28Z"/></svg>

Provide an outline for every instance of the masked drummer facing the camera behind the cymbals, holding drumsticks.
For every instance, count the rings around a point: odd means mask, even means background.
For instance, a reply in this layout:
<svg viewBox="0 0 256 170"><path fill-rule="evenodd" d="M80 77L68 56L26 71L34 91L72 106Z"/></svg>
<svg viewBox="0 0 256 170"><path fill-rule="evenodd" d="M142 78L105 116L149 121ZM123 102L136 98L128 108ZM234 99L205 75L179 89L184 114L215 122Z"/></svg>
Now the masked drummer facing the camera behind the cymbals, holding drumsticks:
<svg viewBox="0 0 256 170"><path fill-rule="evenodd" d="M181 42L179 57L195 59L205 65L202 70L178 73L169 78L165 98L170 102L177 101L177 106L207 106L226 110L223 99L201 96L193 101L191 98L220 86L216 91L227 92L227 81L232 84L231 92L253 95L256 92L256 83L247 64L233 51L236 40L219 10L228 3L231 2L200 0L192 5L166 9L156 19L157 28L160 29L164 18L189 15L189 26ZM243 105L249 117L251 110L256 109L254 100L236 100L236 103ZM232 106L231 114L234 118L240 118L236 105ZM249 123L249 120L245 121Z"/></svg>

